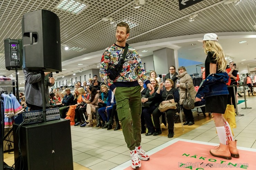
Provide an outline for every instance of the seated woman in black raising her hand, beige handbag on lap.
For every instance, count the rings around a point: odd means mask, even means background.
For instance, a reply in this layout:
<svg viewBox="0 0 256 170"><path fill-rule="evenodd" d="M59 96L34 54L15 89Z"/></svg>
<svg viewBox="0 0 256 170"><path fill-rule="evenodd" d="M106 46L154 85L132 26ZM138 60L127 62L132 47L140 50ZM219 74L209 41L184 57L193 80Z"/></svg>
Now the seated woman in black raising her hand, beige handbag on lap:
<svg viewBox="0 0 256 170"><path fill-rule="evenodd" d="M165 87L163 90L162 87ZM156 93L155 98L157 102L161 102L161 104L166 103L178 103L180 101L180 94L179 91L174 88L174 83L171 79L166 79L165 83L161 82ZM156 107L156 109L153 111L153 120L155 124L156 131L153 133L153 136L157 136L159 134L162 134L161 128L160 128L160 120L159 117L162 115L162 112ZM168 109L166 110L166 117L167 117L167 123L168 123L168 138L172 138L174 136L174 116L176 112L178 112L179 108L176 109Z"/></svg>

